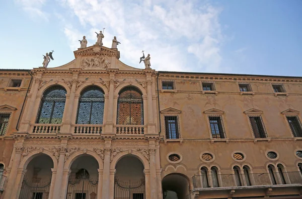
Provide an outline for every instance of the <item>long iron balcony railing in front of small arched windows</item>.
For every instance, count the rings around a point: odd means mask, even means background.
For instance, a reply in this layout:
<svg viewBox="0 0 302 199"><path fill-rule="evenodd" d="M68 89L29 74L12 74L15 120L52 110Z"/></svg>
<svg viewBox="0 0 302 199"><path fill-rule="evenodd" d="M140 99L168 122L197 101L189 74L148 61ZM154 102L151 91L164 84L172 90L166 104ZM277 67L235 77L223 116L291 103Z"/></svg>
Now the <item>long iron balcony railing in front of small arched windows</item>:
<svg viewBox="0 0 302 199"><path fill-rule="evenodd" d="M302 186L300 172L194 175L194 189L239 188L243 186L272 186L297 184Z"/></svg>

